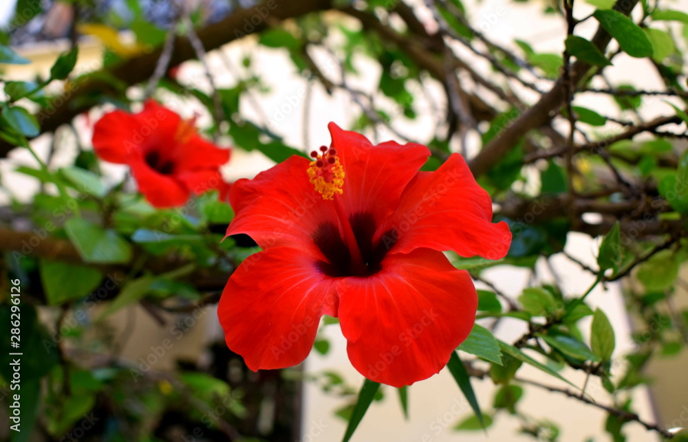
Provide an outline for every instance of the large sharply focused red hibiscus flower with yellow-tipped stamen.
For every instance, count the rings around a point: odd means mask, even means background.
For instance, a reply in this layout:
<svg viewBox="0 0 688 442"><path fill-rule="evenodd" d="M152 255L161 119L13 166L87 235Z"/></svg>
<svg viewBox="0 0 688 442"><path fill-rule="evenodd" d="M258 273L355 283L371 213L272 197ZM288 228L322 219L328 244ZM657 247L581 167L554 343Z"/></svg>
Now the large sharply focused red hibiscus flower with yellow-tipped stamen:
<svg viewBox="0 0 688 442"><path fill-rule="evenodd" d="M332 146L240 179L227 234L263 251L241 263L219 302L229 348L249 368L303 361L323 315L339 318L362 375L403 386L438 373L469 335L469 274L442 251L502 258L508 225L464 159L420 172L420 144L373 146L330 123Z"/></svg>

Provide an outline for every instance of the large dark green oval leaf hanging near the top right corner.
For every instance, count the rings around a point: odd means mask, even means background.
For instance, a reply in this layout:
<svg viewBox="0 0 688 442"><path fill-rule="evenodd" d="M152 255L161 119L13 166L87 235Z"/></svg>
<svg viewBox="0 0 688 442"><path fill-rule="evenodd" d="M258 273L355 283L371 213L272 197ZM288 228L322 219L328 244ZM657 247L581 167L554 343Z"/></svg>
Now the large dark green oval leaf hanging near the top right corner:
<svg viewBox="0 0 688 442"><path fill-rule="evenodd" d="M627 16L615 10L596 10L592 15L619 42L623 52L635 58L652 56L653 49L649 38L641 27Z"/></svg>

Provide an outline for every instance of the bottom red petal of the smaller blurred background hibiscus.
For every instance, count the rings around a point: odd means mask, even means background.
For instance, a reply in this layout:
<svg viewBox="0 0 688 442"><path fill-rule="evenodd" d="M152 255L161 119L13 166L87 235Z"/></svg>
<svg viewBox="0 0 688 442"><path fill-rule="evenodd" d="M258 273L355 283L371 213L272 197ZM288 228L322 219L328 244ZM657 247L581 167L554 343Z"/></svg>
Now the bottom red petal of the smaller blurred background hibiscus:
<svg viewBox="0 0 688 442"><path fill-rule="evenodd" d="M179 207L189 199L189 190L173 175L158 173L143 159L131 161L130 166L138 190L151 205L158 208Z"/></svg>

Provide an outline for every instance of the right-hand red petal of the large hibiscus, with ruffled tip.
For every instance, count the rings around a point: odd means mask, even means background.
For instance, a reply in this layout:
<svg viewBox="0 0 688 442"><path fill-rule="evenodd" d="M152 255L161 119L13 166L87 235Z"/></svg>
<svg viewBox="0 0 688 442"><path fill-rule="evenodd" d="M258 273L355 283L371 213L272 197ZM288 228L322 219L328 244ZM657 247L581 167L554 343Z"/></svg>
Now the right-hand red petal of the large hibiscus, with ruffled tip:
<svg viewBox="0 0 688 442"><path fill-rule="evenodd" d="M504 258L511 232L502 221L492 223L492 203L478 186L458 153L433 173L419 173L404 190L398 210L378 236L396 230L398 242L391 253L408 253L418 247L453 250L461 256Z"/></svg>

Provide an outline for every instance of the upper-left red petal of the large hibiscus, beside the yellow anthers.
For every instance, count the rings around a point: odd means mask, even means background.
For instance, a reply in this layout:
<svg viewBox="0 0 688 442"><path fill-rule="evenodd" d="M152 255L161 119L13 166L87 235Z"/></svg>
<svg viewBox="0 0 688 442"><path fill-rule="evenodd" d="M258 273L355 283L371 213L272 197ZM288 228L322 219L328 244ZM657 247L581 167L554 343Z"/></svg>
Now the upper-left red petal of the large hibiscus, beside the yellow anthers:
<svg viewBox="0 0 688 442"><path fill-rule="evenodd" d="M286 245L316 253L312 234L323 221L337 221L332 201L308 181L308 164L294 155L254 179L237 180L229 194L236 216L227 234L247 234L264 249Z"/></svg>

